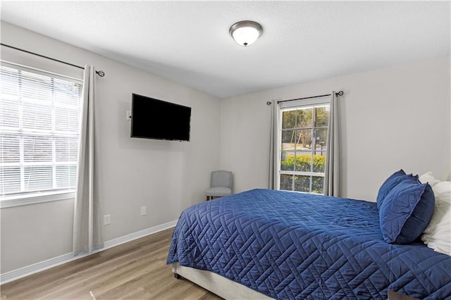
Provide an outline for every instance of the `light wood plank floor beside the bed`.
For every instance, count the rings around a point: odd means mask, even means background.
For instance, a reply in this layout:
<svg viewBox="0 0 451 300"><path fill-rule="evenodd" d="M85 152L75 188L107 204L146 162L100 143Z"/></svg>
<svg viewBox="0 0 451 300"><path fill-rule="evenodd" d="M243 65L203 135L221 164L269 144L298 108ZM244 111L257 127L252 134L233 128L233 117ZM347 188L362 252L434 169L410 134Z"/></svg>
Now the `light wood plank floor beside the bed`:
<svg viewBox="0 0 451 300"><path fill-rule="evenodd" d="M166 265L173 229L1 285L11 299L221 299L176 280ZM92 296L90 293L92 292Z"/></svg>

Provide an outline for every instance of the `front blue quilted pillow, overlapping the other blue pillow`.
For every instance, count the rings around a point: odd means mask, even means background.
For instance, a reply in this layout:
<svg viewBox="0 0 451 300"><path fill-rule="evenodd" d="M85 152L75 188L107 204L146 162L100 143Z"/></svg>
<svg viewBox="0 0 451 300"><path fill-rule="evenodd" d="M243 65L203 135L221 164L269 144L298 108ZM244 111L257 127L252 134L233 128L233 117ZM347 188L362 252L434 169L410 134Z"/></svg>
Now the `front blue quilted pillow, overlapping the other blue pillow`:
<svg viewBox="0 0 451 300"><path fill-rule="evenodd" d="M379 223L385 242L409 244L426 229L434 211L435 196L428 183L415 177L404 180L385 196Z"/></svg>

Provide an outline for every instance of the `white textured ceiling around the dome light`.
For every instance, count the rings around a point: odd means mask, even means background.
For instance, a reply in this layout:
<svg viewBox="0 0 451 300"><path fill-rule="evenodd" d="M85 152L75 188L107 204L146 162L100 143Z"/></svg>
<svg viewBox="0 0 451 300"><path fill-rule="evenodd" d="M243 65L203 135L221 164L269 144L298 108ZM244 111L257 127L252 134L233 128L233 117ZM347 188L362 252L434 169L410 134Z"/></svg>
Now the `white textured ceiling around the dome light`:
<svg viewBox="0 0 451 300"><path fill-rule="evenodd" d="M2 0L1 20L224 98L450 54L450 4ZM247 48L239 20L264 28Z"/></svg>

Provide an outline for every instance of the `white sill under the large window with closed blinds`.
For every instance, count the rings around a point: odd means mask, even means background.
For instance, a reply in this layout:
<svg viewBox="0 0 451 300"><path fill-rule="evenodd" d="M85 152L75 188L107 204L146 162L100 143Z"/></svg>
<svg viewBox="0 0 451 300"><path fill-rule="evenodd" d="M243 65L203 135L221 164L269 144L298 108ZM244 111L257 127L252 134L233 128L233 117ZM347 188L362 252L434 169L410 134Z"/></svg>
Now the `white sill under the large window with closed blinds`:
<svg viewBox="0 0 451 300"><path fill-rule="evenodd" d="M24 206L30 204L38 204L51 201L69 200L75 198L73 190L58 192L43 192L20 196L2 196L0 199L0 208L8 208L15 206Z"/></svg>

